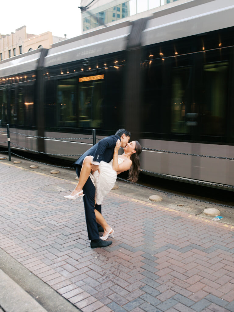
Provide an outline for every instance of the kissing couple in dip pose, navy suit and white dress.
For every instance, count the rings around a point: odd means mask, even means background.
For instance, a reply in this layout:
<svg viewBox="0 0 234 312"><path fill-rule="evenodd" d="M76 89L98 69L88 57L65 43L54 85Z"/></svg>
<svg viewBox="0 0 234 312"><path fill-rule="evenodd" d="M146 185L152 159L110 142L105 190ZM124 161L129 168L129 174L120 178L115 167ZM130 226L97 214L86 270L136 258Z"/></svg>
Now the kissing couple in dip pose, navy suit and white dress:
<svg viewBox="0 0 234 312"><path fill-rule="evenodd" d="M139 175L139 154L141 146L138 141L129 142L130 132L119 129L115 135L100 140L88 149L74 163L79 182L67 199L83 198L85 219L91 248L106 247L112 241L106 241L109 235L114 237L114 230L107 224L101 214L104 196L113 188L117 174L129 170L128 179L136 182ZM124 149L118 155L119 148ZM104 232L99 237L99 232Z"/></svg>

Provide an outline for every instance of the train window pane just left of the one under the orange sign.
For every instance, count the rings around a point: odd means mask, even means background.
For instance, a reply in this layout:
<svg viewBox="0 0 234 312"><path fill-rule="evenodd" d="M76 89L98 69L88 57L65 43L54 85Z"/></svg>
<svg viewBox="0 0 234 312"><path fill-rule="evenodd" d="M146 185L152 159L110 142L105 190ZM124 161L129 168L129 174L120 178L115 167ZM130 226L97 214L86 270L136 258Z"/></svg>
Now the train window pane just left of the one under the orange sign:
<svg viewBox="0 0 234 312"><path fill-rule="evenodd" d="M76 126L76 79L60 80L57 86L57 125Z"/></svg>

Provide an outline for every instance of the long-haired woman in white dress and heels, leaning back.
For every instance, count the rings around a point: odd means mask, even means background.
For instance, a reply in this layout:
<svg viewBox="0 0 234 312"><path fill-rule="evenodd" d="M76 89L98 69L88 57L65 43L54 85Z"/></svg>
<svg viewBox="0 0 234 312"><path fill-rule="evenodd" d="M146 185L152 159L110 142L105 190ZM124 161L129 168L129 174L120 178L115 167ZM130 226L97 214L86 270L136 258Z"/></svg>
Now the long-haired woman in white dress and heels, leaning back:
<svg viewBox="0 0 234 312"><path fill-rule="evenodd" d="M117 140L113 159L110 161L110 163L101 161L99 170L96 170L93 174L91 173L93 156L86 156L82 164L80 179L76 185L76 188L73 190L71 195L64 197L73 200L80 197L81 200L82 197L85 196L83 193L83 186L89 177L95 186L95 202L97 204L101 204L104 196L113 188L117 174L129 170L128 180L131 182L136 182L140 169L138 155L141 153L141 145L138 141L129 142L124 147L124 154L122 155L118 155L119 148L120 140ZM104 234L100 238L105 241L110 234L112 234L112 237L114 237L114 230L106 223L103 216L96 209L95 217L96 222L104 229Z"/></svg>

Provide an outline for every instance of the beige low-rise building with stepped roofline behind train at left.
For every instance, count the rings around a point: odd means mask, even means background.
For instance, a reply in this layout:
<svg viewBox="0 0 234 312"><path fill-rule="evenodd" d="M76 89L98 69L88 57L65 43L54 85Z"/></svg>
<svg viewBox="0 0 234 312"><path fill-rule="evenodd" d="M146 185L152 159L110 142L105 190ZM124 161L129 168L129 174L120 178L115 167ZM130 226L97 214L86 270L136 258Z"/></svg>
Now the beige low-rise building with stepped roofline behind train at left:
<svg viewBox="0 0 234 312"><path fill-rule="evenodd" d="M38 48L49 49L52 43L62 41L65 37L56 37L52 32L40 35L27 34L26 26L22 26L10 35L0 33L0 61Z"/></svg>

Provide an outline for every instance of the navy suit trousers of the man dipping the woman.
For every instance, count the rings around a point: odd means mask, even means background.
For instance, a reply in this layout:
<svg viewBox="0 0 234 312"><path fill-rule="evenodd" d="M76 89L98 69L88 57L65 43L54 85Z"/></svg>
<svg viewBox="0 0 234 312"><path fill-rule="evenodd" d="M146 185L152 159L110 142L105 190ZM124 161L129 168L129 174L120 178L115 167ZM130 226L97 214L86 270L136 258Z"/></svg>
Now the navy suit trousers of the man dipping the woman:
<svg viewBox="0 0 234 312"><path fill-rule="evenodd" d="M81 166L76 166L76 174L80 177ZM84 206L85 206L85 220L87 225L87 231L89 240L98 239L98 224L96 222L94 209L98 210L101 213L101 205L95 205L95 186L91 181L90 177L86 181L83 191L85 196L83 197Z"/></svg>

